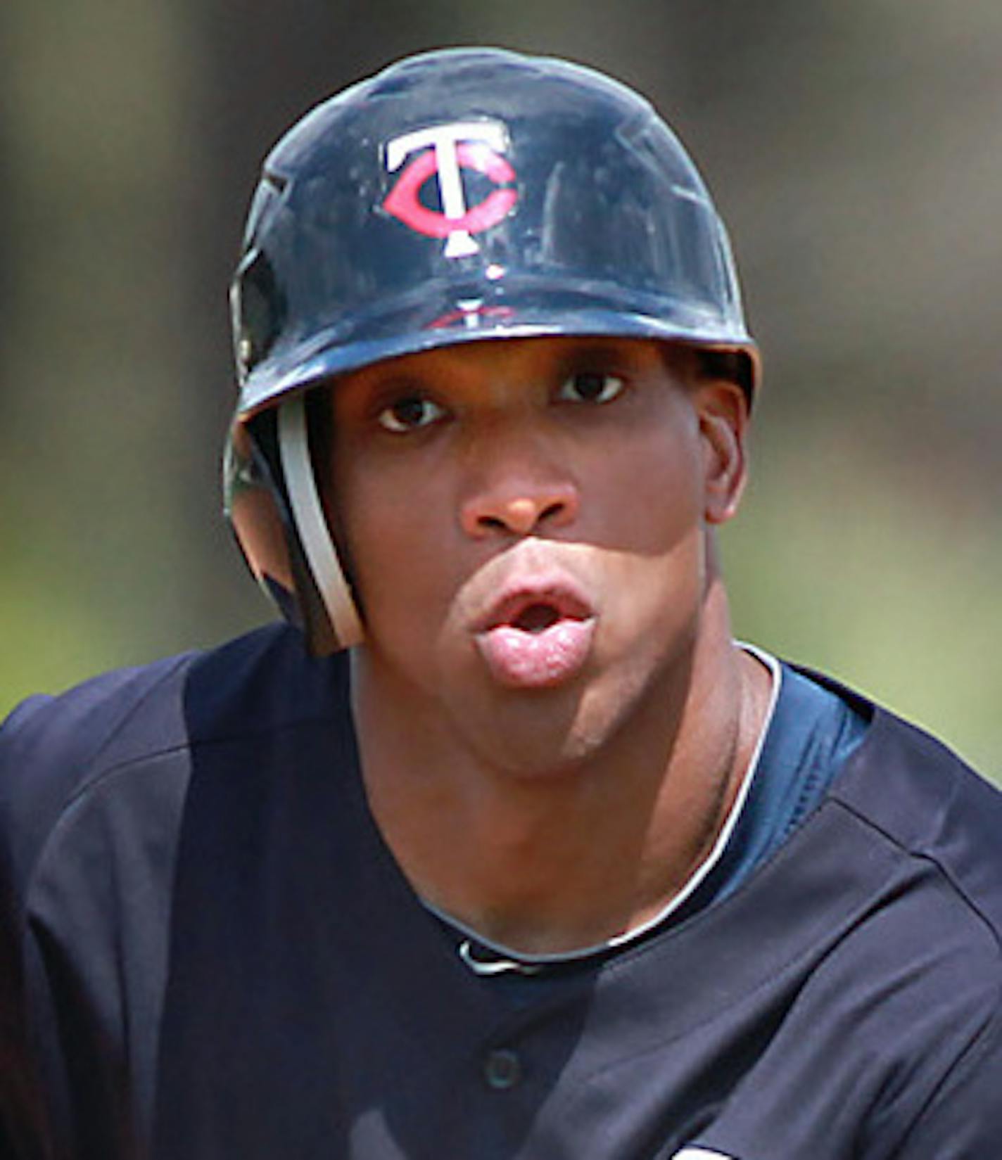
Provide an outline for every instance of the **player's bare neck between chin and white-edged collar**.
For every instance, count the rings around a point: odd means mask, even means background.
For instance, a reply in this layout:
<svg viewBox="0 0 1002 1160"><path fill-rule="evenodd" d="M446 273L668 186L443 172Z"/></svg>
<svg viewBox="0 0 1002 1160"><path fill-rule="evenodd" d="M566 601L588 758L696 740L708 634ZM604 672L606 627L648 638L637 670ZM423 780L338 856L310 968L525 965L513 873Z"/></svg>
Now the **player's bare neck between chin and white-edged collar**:
<svg viewBox="0 0 1002 1160"><path fill-rule="evenodd" d="M434 705L415 712L378 658L355 665L373 817L415 891L494 942L559 954L660 911L705 858L747 771L769 699L731 640L723 587L685 657L594 752L499 767Z"/></svg>

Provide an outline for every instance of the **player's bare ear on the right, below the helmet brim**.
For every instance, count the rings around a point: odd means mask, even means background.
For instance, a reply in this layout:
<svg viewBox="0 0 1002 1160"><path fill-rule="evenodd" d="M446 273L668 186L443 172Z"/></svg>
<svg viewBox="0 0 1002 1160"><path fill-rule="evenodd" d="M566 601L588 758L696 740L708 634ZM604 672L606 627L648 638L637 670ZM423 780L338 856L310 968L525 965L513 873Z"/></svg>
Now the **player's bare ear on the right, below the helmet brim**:
<svg viewBox="0 0 1002 1160"><path fill-rule="evenodd" d="M697 383L694 404L703 438L704 517L726 523L738 510L748 472L748 398L736 383L712 378Z"/></svg>

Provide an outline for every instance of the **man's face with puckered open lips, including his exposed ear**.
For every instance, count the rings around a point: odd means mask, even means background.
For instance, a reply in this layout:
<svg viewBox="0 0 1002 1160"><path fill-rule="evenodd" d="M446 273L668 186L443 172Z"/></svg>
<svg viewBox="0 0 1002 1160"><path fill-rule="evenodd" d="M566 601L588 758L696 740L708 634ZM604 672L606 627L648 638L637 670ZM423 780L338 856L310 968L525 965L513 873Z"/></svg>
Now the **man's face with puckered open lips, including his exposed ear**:
<svg viewBox="0 0 1002 1160"><path fill-rule="evenodd" d="M384 697L531 770L677 693L707 525L743 477L741 392L694 368L653 342L554 338L339 380L328 503Z"/></svg>

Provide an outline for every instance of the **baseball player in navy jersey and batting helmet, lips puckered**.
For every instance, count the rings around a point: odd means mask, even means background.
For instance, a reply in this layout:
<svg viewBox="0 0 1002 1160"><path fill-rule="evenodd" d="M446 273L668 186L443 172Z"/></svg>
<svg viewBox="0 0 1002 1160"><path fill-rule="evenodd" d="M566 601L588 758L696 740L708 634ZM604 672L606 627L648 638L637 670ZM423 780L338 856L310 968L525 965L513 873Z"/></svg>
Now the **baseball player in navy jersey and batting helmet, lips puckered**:
<svg viewBox="0 0 1002 1160"><path fill-rule="evenodd" d="M3 728L5 1160L997 1155L1002 804L733 639L758 355L651 107L387 68L233 317L282 622Z"/></svg>

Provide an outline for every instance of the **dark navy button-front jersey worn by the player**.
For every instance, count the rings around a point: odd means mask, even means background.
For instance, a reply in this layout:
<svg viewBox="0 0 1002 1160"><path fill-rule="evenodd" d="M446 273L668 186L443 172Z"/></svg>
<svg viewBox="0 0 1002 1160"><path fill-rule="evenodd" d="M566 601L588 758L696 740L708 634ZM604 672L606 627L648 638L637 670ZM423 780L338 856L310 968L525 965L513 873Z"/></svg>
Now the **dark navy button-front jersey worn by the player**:
<svg viewBox="0 0 1002 1160"><path fill-rule="evenodd" d="M369 813L343 658L269 629L0 745L0 1155L986 1160L1002 797L871 719L736 889L482 977Z"/></svg>

